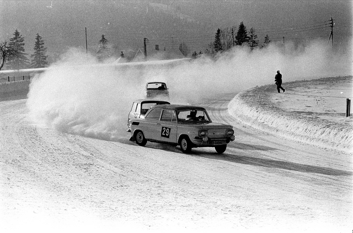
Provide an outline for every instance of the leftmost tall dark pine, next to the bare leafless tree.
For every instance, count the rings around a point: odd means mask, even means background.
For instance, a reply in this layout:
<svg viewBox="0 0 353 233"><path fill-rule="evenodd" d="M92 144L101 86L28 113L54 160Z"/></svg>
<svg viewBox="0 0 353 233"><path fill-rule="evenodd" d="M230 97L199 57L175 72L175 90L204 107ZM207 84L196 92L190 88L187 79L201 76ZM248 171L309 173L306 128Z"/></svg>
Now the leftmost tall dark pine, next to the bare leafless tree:
<svg viewBox="0 0 353 233"><path fill-rule="evenodd" d="M26 57L27 53L24 53L24 38L20 33L16 31L13 33L14 37L10 39L8 45L16 51L16 56L12 56L6 65L7 68L19 70L27 68L29 65L29 59Z"/></svg>

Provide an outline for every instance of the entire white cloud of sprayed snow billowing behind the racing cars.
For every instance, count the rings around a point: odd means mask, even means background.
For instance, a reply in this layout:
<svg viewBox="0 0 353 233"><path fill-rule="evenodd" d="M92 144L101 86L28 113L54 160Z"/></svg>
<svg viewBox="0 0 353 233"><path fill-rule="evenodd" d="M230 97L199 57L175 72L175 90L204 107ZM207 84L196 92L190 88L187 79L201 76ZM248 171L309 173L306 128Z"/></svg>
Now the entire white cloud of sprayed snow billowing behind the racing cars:
<svg viewBox="0 0 353 233"><path fill-rule="evenodd" d="M332 55L325 42L306 46L270 44L250 51L235 47L216 58L203 56L172 66L97 68L93 57L72 50L30 85L27 105L34 120L63 132L103 140L126 139L132 102L143 98L147 81L167 83L170 102L195 104L274 83L352 75L352 49ZM274 87L275 90L275 87Z"/></svg>

